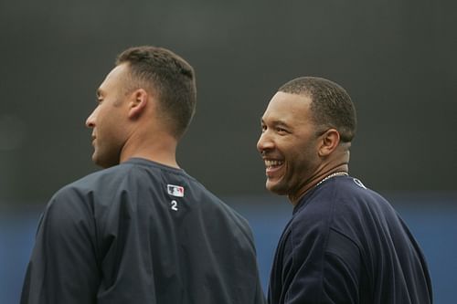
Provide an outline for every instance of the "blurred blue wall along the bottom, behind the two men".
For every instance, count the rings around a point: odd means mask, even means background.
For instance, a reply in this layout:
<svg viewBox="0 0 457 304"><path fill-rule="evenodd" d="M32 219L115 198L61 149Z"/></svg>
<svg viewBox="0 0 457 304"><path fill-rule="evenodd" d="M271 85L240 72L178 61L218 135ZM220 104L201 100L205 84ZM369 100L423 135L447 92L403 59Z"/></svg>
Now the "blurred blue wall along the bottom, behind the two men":
<svg viewBox="0 0 457 304"><path fill-rule="evenodd" d="M457 280L457 194L387 197L423 249L430 267L435 303L453 303ZM228 197L226 202L250 221L266 291L274 250L292 207L277 196ZM0 303L18 303L40 211L31 205L2 210L0 214Z"/></svg>

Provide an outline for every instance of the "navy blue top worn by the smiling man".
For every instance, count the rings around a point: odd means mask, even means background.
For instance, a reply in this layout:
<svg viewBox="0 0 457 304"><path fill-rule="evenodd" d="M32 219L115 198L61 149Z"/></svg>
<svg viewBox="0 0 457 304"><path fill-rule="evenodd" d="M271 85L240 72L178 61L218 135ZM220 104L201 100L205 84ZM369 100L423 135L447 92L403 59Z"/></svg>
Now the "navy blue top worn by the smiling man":
<svg viewBox="0 0 457 304"><path fill-rule="evenodd" d="M303 196L271 269L269 302L431 303L427 264L397 212L349 176Z"/></svg>

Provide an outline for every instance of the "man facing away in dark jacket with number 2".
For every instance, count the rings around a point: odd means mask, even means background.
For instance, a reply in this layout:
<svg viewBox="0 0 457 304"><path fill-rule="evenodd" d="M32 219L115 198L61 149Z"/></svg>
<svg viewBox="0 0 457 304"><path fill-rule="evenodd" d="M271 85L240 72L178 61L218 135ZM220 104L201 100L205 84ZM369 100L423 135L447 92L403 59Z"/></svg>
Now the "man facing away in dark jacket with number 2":
<svg viewBox="0 0 457 304"><path fill-rule="evenodd" d="M51 198L21 303L263 303L247 221L175 159L196 99L173 52L119 56L86 121L106 169Z"/></svg>

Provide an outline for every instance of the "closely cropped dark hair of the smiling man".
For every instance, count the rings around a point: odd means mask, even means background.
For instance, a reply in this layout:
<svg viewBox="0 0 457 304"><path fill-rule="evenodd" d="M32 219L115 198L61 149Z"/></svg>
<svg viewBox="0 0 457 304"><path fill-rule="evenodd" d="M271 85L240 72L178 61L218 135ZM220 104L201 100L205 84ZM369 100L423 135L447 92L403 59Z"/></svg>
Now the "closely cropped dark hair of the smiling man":
<svg viewBox="0 0 457 304"><path fill-rule="evenodd" d="M356 135L356 108L351 97L337 83L319 77L300 77L282 85L279 91L306 95L311 99L314 124L319 128L335 128L342 142Z"/></svg>

